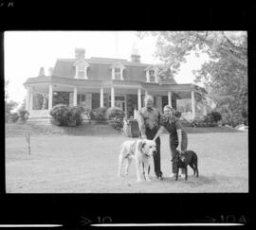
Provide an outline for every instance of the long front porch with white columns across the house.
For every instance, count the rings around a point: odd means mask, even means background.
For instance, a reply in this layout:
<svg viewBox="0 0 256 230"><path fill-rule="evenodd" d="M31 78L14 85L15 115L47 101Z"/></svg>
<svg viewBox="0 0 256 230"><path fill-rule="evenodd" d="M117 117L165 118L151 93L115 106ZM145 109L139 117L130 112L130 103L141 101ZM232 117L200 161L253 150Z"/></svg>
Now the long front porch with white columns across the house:
<svg viewBox="0 0 256 230"><path fill-rule="evenodd" d="M172 105L178 109L179 101L191 100L190 114L194 118L196 111L197 93L192 84L159 85L155 83L121 82L121 80L107 80L90 82L90 84L64 84L60 82L38 82L27 84L26 109L29 119L50 118L51 108L60 103L69 106L82 106L86 109L98 107L119 107L127 118L133 118L137 109L144 106L146 95L155 98L154 106L163 112L165 105ZM199 114L206 114L204 105ZM182 112L182 111L181 111ZM196 113L197 112L197 113ZM185 115L188 111L184 112Z"/></svg>

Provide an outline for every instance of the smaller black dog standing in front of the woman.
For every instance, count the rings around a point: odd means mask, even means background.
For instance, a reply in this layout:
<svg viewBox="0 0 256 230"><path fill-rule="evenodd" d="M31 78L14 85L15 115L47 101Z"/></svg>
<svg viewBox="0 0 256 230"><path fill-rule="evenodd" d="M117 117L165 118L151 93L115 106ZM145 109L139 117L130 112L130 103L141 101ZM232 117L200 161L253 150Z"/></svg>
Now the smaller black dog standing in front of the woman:
<svg viewBox="0 0 256 230"><path fill-rule="evenodd" d="M178 179L179 168L185 169L185 180L188 180L188 166L193 169L193 174L196 173L196 177L198 177L197 155L194 151L186 150L182 153L177 151L176 156L172 161L174 161L176 165L176 181Z"/></svg>

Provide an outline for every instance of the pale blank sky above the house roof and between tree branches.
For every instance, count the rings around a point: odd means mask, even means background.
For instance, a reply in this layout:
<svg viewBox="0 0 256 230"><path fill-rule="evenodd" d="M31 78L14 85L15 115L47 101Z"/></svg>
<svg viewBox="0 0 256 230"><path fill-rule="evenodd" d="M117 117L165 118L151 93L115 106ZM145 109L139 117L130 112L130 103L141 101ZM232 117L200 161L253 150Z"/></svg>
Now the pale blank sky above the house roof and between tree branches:
<svg viewBox="0 0 256 230"><path fill-rule="evenodd" d="M54 67L57 59L73 59L75 48L85 49L85 59L91 57L118 58L130 61L133 46L140 62L155 64L155 37L142 40L136 31L6 31L4 34L5 80L9 100L21 103L26 97L23 83L37 77L40 67ZM174 79L177 83L193 83L192 70L199 69L207 56L188 57Z"/></svg>

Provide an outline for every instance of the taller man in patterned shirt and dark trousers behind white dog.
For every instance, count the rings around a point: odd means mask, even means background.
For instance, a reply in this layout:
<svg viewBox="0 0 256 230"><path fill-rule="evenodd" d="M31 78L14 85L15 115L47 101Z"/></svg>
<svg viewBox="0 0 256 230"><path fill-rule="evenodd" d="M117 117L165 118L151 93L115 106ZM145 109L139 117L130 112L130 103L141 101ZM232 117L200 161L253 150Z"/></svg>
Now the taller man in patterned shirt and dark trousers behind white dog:
<svg viewBox="0 0 256 230"><path fill-rule="evenodd" d="M137 111L137 123L141 133L141 138L153 140L160 124L160 113L153 108L154 98L147 95L144 99L145 107ZM160 165L160 138L155 139L156 153L154 155L154 166L156 178L162 180L162 172Z"/></svg>

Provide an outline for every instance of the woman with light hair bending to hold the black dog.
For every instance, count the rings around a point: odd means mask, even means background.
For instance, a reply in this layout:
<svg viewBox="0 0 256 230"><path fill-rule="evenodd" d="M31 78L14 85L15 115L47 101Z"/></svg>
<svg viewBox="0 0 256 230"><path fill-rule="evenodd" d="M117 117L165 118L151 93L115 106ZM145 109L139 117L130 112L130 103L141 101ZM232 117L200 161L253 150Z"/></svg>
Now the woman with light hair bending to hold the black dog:
<svg viewBox="0 0 256 230"><path fill-rule="evenodd" d="M175 115L174 115L175 114ZM160 121L160 129L155 134L153 140L155 140L161 133L163 133L164 129L166 129L170 133L170 149L172 152L172 158L174 159L179 151L185 151L188 147L188 135L182 129L180 120L180 113L176 113L174 108L169 105L164 107L164 114L161 117ZM173 162L173 173L171 177L174 177L176 173L175 164ZM181 177L185 177L185 170L182 168Z"/></svg>

